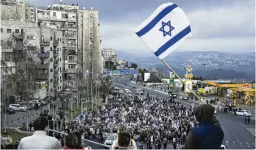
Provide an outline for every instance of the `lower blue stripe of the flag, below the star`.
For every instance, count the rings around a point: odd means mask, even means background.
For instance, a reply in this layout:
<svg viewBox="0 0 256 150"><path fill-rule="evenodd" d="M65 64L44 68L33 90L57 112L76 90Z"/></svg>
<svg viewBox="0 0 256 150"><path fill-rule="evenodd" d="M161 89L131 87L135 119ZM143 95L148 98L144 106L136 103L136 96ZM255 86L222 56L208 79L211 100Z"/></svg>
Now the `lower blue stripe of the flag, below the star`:
<svg viewBox="0 0 256 150"><path fill-rule="evenodd" d="M163 46L161 46L154 54L158 57L163 54L169 47L176 44L177 41L180 41L184 36L188 35L191 32L190 25L187 28L184 28L181 32L179 32L176 36L172 37L171 40L167 41Z"/></svg>

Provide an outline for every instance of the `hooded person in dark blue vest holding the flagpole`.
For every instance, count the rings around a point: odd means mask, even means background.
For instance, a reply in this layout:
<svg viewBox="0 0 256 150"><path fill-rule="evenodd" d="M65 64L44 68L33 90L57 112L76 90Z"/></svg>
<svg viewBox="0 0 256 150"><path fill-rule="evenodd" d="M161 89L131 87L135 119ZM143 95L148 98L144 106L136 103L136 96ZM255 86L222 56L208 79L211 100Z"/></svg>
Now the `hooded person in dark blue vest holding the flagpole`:
<svg viewBox="0 0 256 150"><path fill-rule="evenodd" d="M209 104L199 105L194 113L199 126L189 131L184 149L219 149L224 133L214 116L215 108Z"/></svg>

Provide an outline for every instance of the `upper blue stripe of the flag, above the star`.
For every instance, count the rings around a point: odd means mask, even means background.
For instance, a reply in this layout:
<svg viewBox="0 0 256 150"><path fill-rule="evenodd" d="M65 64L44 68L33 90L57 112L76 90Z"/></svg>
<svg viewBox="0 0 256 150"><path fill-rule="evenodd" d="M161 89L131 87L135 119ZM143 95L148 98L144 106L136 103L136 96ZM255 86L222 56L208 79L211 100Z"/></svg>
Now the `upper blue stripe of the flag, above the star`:
<svg viewBox="0 0 256 150"><path fill-rule="evenodd" d="M163 19L167 14L169 14L172 10L178 7L176 4L171 6L167 6L163 11L161 11L154 19L151 20L150 24L147 24L141 31L137 32L137 36L143 36L145 33L149 32L158 22Z"/></svg>

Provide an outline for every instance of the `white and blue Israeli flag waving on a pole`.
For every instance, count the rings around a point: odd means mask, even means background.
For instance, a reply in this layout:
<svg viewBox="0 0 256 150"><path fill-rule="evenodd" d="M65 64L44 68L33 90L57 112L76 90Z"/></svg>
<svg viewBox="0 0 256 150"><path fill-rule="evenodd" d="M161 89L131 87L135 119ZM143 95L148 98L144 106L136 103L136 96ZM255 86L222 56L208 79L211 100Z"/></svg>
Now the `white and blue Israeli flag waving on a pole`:
<svg viewBox="0 0 256 150"><path fill-rule="evenodd" d="M171 2L158 6L134 32L160 59L182 45L186 37L191 36L189 19L179 6Z"/></svg>

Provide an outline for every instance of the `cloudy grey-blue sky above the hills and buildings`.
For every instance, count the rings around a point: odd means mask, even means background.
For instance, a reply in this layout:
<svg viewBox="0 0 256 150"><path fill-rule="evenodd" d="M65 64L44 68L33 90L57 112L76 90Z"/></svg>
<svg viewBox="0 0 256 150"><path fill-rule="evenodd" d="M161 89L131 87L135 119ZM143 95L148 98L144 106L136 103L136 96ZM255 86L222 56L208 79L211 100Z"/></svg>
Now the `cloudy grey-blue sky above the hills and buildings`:
<svg viewBox="0 0 256 150"><path fill-rule="evenodd" d="M27 0L48 6L58 0ZM131 54L152 53L132 31L165 2L180 6L189 18L192 35L178 51L250 52L255 50L254 0L63 0L99 11L102 48Z"/></svg>

